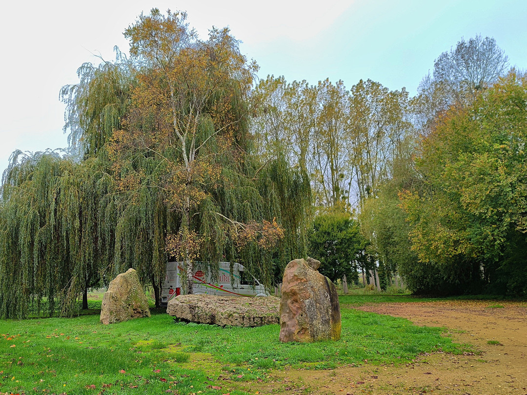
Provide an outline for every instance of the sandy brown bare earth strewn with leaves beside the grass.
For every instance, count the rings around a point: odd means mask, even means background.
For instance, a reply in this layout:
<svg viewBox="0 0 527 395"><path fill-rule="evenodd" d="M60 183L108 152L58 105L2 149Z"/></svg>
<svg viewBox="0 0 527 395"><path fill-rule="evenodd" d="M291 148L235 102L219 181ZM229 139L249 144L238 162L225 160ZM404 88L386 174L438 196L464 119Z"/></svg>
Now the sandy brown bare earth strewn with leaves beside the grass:
<svg viewBox="0 0 527 395"><path fill-rule="evenodd" d="M503 308L489 307L496 304ZM405 317L416 325L447 327L455 342L474 345L476 355L420 355L415 362L400 366L289 369L273 372L270 382L260 383L259 388L252 384L245 390L288 394L527 395L526 303L456 300L358 308Z"/></svg>

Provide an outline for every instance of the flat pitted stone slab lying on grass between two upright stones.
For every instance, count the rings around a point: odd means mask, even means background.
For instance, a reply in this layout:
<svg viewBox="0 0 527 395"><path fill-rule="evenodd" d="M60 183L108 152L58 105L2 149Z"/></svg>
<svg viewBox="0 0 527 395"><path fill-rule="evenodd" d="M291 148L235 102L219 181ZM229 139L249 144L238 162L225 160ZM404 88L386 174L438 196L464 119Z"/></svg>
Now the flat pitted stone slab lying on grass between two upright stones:
<svg viewBox="0 0 527 395"><path fill-rule="evenodd" d="M183 321L220 326L261 326L280 322L280 298L217 295L179 295L167 313Z"/></svg>

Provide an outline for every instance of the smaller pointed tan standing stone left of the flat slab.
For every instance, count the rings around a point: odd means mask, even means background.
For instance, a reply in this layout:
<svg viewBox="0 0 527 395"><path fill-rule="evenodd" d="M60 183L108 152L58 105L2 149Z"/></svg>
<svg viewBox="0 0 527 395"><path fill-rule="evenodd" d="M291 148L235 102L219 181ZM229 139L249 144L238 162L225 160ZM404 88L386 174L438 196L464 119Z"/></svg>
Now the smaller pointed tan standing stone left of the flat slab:
<svg viewBox="0 0 527 395"><path fill-rule="evenodd" d="M115 324L131 318L150 317L148 299L134 269L110 281L101 306L101 323Z"/></svg>

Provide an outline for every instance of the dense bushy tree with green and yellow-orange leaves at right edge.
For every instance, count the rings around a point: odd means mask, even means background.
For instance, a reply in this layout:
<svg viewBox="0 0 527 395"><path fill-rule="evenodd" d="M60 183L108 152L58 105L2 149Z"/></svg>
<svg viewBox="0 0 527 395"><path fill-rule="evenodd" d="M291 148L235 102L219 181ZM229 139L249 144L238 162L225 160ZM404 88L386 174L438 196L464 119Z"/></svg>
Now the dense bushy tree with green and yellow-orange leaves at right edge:
<svg viewBox="0 0 527 395"><path fill-rule="evenodd" d="M483 275L500 292L527 290L516 253L527 231L526 87L511 72L472 105L448 112L423 142L421 182L402 194L419 260L458 287Z"/></svg>

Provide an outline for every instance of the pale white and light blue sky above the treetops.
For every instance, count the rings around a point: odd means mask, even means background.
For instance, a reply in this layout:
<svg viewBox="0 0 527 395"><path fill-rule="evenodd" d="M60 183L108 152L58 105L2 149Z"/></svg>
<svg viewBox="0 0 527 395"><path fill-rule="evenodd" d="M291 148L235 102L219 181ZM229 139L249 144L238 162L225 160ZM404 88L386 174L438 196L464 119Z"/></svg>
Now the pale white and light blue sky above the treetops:
<svg viewBox="0 0 527 395"><path fill-rule="evenodd" d="M301 4L301 6L299 6ZM372 79L415 95L434 60L464 37L494 37L511 66L527 69L527 0L91 0L0 7L0 172L15 149L67 147L62 86L84 62L128 52L123 31L141 12L187 11L202 39L229 26L240 50L287 81Z"/></svg>

